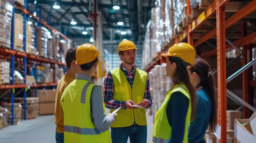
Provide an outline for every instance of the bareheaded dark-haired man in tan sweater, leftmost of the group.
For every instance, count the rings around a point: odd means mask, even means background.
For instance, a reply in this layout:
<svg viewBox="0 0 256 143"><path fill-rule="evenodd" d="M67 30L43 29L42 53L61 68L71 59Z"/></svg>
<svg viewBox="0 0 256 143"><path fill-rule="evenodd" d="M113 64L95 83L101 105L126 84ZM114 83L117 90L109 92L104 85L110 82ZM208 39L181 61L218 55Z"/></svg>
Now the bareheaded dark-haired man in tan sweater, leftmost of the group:
<svg viewBox="0 0 256 143"><path fill-rule="evenodd" d="M63 123L63 110L61 109L61 95L64 89L75 79L77 73L81 72L81 68L76 64L76 49L70 48L67 50L65 61L67 65L67 72L61 78L56 89L55 99L55 124L56 124L56 143L64 143L64 123Z"/></svg>

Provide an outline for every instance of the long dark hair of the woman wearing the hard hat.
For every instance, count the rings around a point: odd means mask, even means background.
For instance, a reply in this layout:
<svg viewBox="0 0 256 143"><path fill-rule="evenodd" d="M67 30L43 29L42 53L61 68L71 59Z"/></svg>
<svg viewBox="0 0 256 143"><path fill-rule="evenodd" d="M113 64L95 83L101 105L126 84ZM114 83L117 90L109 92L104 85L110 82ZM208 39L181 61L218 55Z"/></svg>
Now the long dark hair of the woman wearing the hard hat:
<svg viewBox="0 0 256 143"><path fill-rule="evenodd" d="M186 70L186 66L189 64L184 62L182 59L178 57L169 57L171 63L176 63L176 72L173 76L173 83L178 84L183 82L189 90L190 99L191 99L191 121L195 118L196 107L197 107L197 95L195 93L195 88L189 81L189 73Z"/></svg>

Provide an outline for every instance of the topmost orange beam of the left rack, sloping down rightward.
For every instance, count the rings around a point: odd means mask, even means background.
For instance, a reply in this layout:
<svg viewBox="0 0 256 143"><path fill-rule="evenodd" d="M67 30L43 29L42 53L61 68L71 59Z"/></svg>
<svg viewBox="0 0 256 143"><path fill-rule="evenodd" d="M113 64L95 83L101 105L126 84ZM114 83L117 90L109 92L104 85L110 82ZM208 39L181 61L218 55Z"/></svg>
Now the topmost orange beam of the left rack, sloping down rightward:
<svg viewBox="0 0 256 143"><path fill-rule="evenodd" d="M43 24L44 26L46 26L48 29L51 29L53 31L55 31L56 33L58 33L58 35L61 35L61 37L63 37L64 39L67 39L67 36L65 36L64 34L62 34L61 32L59 32L58 30L54 29L52 26L49 26L49 24L47 24L46 22L44 22L43 20L40 20L38 17L34 16L32 13L29 13L29 11L27 11L24 7L21 7L20 5L18 5L17 3L15 3L15 7L20 9L21 11L23 11L24 13L26 13L27 15L31 16L31 18L33 18L34 20L40 22L41 24Z"/></svg>

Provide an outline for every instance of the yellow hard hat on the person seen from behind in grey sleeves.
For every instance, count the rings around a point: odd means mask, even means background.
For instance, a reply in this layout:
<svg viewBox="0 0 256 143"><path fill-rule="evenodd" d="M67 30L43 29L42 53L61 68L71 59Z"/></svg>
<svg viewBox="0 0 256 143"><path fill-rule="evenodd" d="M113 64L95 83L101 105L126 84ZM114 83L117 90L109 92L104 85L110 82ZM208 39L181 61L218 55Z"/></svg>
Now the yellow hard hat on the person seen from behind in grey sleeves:
<svg viewBox="0 0 256 143"><path fill-rule="evenodd" d="M87 64L96 59L101 53L92 44L82 44L76 50L76 63Z"/></svg>

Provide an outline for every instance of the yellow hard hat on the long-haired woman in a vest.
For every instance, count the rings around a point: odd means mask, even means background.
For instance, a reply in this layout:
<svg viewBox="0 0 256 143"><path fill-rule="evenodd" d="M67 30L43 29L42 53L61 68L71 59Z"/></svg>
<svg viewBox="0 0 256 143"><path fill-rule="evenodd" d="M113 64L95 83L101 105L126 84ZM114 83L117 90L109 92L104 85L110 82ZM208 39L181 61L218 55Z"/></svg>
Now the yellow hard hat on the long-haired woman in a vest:
<svg viewBox="0 0 256 143"><path fill-rule="evenodd" d="M161 54L163 57L178 57L184 62L194 65L195 48L188 43L177 43L168 49L166 54Z"/></svg>

